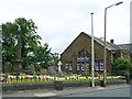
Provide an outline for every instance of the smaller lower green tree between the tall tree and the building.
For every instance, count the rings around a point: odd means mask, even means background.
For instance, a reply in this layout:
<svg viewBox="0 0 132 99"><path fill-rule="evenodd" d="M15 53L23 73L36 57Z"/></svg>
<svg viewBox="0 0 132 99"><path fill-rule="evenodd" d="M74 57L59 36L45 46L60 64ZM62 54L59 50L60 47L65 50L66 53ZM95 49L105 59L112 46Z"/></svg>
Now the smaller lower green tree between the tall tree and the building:
<svg viewBox="0 0 132 99"><path fill-rule="evenodd" d="M48 44L45 43L43 46L37 46L32 63L38 64L42 68L47 68L52 65L52 61L56 64L61 61L59 55L57 53L52 53L52 48L48 47ZM40 68L36 65L36 68Z"/></svg>

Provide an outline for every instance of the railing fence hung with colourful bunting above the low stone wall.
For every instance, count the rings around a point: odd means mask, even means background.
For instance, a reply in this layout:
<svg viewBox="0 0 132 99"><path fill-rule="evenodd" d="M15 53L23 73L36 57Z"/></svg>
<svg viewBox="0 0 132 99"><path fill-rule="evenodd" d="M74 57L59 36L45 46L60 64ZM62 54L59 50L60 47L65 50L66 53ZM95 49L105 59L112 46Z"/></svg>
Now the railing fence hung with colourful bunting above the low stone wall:
<svg viewBox="0 0 132 99"><path fill-rule="evenodd" d="M107 79L124 79L124 76L107 76ZM55 80L63 80L63 81L87 81L91 80L92 78L89 76L67 76L67 77L54 77L47 75L23 75L23 76L3 76L1 79L2 84L18 84L18 82L52 82ZM95 77L95 80L102 80L103 77Z"/></svg>

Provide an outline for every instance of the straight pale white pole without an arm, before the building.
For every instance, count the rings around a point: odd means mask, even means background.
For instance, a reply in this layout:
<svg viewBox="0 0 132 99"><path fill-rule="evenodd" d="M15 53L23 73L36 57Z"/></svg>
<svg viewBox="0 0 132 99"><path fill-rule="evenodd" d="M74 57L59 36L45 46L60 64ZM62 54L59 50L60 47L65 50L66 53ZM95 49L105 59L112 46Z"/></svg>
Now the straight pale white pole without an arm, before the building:
<svg viewBox="0 0 132 99"><path fill-rule="evenodd" d="M91 75L92 87L95 87L94 12L91 13Z"/></svg>

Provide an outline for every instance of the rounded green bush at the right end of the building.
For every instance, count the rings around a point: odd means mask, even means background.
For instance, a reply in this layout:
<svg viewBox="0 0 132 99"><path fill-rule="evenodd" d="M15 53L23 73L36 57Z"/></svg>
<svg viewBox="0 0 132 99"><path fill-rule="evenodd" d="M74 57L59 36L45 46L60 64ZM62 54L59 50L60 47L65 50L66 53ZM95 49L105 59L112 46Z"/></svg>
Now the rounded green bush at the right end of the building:
<svg viewBox="0 0 132 99"><path fill-rule="evenodd" d="M130 61L119 57L114 61L112 67L114 72L130 70Z"/></svg>

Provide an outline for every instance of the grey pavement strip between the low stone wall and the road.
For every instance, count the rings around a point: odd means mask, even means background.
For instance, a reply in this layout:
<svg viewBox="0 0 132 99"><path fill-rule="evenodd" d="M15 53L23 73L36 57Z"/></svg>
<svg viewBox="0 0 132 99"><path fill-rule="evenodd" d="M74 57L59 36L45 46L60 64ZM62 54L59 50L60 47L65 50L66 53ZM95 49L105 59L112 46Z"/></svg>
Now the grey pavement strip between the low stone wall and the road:
<svg viewBox="0 0 132 99"><path fill-rule="evenodd" d="M2 97L65 97L70 95L90 94L90 92L116 90L116 89L122 89L122 88L130 88L130 85L120 84L120 85L109 85L107 87L96 86L95 88L66 87L63 90L44 89L44 90L35 90L35 91L15 92L15 94L3 94Z"/></svg>

